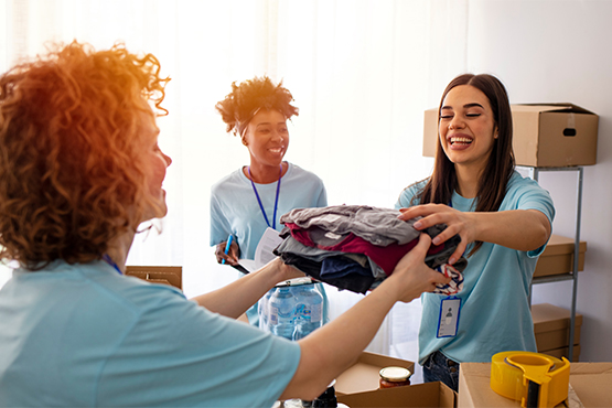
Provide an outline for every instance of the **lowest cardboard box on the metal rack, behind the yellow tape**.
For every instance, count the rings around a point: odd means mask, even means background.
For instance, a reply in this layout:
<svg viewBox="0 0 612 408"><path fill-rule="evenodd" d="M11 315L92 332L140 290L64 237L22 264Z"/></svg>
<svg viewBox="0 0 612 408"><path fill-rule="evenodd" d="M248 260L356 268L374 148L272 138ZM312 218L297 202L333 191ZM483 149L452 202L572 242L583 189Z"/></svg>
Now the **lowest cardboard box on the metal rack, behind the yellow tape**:
<svg viewBox="0 0 612 408"><path fill-rule="evenodd" d="M534 332L538 351L563 348L569 346L570 311L549 303L532 305ZM580 344L582 315L576 313L573 344Z"/></svg>

